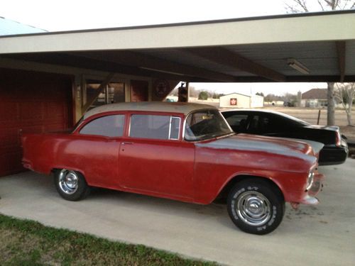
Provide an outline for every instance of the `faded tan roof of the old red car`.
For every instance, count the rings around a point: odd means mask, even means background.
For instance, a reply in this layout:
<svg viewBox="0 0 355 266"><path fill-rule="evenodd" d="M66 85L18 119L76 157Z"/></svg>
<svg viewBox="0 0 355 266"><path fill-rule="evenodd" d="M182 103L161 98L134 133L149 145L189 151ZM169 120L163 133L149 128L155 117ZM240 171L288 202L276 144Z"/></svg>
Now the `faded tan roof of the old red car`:
<svg viewBox="0 0 355 266"><path fill-rule="evenodd" d="M192 111L203 109L217 109L208 104L191 104L180 102L163 102L163 101L140 101L118 104L105 104L95 107L84 114L84 119L97 115L98 113L106 113L109 111L155 111L167 113L184 113L187 115Z"/></svg>

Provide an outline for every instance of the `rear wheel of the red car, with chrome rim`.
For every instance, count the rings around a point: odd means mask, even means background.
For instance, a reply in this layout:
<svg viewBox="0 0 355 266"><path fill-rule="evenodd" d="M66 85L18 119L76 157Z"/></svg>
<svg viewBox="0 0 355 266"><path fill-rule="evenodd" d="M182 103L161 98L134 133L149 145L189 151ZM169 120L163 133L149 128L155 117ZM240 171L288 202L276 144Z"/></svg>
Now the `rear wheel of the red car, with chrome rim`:
<svg viewBox="0 0 355 266"><path fill-rule="evenodd" d="M90 192L84 176L77 171L66 169L55 171L54 183L60 196L68 201L84 199Z"/></svg>

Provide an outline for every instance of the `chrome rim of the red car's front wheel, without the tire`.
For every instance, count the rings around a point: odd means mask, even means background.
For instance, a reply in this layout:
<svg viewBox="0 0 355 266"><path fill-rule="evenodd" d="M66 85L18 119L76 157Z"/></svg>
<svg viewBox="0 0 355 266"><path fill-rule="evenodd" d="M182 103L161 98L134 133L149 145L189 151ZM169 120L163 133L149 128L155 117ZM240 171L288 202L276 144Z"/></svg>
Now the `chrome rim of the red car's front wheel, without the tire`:
<svg viewBox="0 0 355 266"><path fill-rule="evenodd" d="M237 199L236 214L250 226L261 226L271 217L271 204L261 193L244 192Z"/></svg>

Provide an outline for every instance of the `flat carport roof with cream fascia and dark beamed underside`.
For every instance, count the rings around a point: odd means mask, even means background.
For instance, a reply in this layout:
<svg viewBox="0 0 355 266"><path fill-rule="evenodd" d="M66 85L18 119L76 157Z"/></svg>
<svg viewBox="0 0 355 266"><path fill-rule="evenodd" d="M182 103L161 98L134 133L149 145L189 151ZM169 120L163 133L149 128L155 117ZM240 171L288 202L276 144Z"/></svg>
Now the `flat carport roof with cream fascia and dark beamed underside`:
<svg viewBox="0 0 355 266"><path fill-rule="evenodd" d="M355 10L3 36L0 57L188 82L354 82Z"/></svg>

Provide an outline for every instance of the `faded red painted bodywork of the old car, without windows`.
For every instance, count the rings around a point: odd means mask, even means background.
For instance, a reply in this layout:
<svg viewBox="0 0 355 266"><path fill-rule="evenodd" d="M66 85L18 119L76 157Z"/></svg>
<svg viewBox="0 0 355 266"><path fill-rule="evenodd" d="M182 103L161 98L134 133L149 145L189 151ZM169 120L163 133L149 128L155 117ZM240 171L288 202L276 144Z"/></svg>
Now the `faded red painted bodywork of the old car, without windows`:
<svg viewBox="0 0 355 266"><path fill-rule="evenodd" d="M179 140L130 138L129 117L138 112L109 112L112 113L126 115L123 137L80 135L82 126L105 114L99 113L86 118L73 133L23 135L23 165L46 174L53 169L76 170L82 172L93 187L199 204L211 203L231 179L249 175L270 179L283 192L285 201L317 203L313 196L320 189L312 194L306 192L308 173L317 167L312 148L306 143L246 134L187 142L182 139L181 131ZM180 116L182 128L184 114L166 114ZM219 148L215 146L217 142L222 143ZM255 147L263 143L280 145L300 156L249 146L235 149L223 146L224 143L253 143ZM322 179L317 172L316 177ZM311 203L309 198L315 201Z"/></svg>

